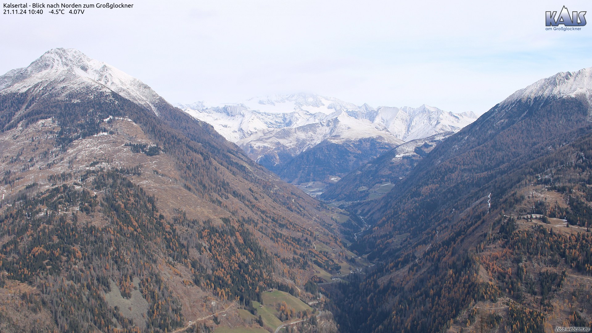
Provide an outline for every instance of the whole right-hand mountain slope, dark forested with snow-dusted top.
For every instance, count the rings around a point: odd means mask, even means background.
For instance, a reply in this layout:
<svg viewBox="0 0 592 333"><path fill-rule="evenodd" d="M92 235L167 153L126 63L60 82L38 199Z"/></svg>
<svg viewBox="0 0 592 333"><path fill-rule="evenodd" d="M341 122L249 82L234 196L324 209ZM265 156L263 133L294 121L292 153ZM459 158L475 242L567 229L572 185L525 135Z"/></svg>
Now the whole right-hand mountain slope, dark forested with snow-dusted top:
<svg viewBox="0 0 592 333"><path fill-rule="evenodd" d="M592 264L590 72L517 91L439 143L383 198L353 206L372 226L354 247L377 265L327 288L344 331L591 324L578 292Z"/></svg>

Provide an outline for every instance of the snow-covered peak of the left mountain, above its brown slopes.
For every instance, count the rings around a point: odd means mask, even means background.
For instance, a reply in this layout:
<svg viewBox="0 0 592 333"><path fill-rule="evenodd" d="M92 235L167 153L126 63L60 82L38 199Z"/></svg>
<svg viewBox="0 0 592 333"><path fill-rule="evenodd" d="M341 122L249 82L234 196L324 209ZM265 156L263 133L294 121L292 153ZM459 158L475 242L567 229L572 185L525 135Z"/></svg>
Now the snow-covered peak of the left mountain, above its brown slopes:
<svg viewBox="0 0 592 333"><path fill-rule="evenodd" d="M34 85L53 85L61 94L98 84L159 114L164 100L139 79L107 63L91 59L76 49L52 49L26 68L0 76L0 91L22 92ZM166 103L166 102L165 102Z"/></svg>

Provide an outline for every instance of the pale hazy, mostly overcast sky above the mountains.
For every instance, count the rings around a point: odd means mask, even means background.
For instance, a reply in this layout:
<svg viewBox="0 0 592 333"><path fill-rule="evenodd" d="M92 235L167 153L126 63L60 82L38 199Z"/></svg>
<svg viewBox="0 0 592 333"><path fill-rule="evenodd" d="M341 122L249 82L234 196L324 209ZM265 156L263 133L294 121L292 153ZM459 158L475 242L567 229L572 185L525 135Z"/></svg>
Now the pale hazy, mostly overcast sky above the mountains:
<svg viewBox="0 0 592 333"><path fill-rule="evenodd" d="M73 47L172 103L311 92L481 114L538 79L592 66L590 1L125 3L134 8L2 15L0 72ZM545 11L563 5L589 11L590 23L545 31Z"/></svg>

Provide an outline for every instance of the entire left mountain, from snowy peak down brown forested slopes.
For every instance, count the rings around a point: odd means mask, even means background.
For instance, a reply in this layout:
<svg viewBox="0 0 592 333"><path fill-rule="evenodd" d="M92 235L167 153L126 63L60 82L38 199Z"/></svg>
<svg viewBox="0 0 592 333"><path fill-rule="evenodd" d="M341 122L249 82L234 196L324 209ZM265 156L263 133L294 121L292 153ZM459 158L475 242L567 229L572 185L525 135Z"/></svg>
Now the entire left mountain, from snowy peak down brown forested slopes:
<svg viewBox="0 0 592 333"><path fill-rule="evenodd" d="M248 326L343 263L317 201L139 80L56 49L0 82L0 331Z"/></svg>

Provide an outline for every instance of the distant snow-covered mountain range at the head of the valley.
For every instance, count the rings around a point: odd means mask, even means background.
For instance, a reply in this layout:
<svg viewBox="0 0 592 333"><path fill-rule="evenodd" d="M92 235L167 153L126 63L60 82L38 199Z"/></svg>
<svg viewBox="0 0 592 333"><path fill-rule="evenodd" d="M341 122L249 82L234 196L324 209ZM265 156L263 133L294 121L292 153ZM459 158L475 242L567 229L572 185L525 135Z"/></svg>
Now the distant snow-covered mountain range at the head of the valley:
<svg viewBox="0 0 592 333"><path fill-rule="evenodd" d="M210 123L258 160L268 153L295 156L324 140L344 142L374 138L399 145L443 132L457 132L472 123L472 113L452 113L436 107L356 105L311 94L250 98L240 103L176 104L191 116Z"/></svg>

